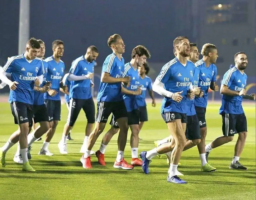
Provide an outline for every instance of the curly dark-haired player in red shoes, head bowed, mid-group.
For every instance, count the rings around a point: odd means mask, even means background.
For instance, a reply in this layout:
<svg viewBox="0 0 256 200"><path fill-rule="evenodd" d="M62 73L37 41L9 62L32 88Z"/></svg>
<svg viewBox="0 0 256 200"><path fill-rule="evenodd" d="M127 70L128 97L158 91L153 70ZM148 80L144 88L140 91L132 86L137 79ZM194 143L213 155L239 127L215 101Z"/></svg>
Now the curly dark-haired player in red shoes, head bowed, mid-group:
<svg viewBox="0 0 256 200"><path fill-rule="evenodd" d="M132 59L130 62L125 64L124 74L125 76L131 77L131 83L129 87L122 86L123 99L125 103L125 107L128 115L128 125L131 129L131 148L132 148L132 166L141 166L142 161L138 158L138 146L139 146L139 110L138 103L136 97L141 95L142 90L140 87L140 83L138 81L138 67L143 66L146 63L146 59L150 58L150 52L144 46L137 46L132 50ZM110 139L113 137L115 133L118 132L118 122L115 120L115 117L112 115L112 119L110 121L110 125L112 128L104 135L100 149L96 151L96 156L98 157L98 162L105 166L104 153L107 144ZM117 130L116 130L117 129ZM112 134L114 133L114 134ZM114 166L115 167L115 166Z"/></svg>

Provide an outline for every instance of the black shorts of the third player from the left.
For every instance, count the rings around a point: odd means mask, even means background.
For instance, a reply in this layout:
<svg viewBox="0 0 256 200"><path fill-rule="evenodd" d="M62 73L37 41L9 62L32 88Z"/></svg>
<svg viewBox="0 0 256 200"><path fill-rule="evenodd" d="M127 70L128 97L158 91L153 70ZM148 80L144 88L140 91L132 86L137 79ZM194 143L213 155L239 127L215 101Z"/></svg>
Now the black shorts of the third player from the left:
<svg viewBox="0 0 256 200"><path fill-rule="evenodd" d="M45 99L49 122L61 120L61 100Z"/></svg>

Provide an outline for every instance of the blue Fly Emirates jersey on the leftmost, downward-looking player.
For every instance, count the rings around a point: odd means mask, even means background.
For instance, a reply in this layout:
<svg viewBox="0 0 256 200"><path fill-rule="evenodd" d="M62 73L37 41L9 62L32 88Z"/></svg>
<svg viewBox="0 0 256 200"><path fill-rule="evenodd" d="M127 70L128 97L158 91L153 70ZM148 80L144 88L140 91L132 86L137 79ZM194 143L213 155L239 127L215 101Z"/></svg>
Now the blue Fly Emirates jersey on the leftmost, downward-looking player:
<svg viewBox="0 0 256 200"><path fill-rule="evenodd" d="M11 73L11 81L19 83L15 90L10 91L9 103L14 101L33 105L34 80L36 76L44 74L42 59L35 58L28 61L24 54L13 56L8 59L3 70L6 73Z"/></svg>

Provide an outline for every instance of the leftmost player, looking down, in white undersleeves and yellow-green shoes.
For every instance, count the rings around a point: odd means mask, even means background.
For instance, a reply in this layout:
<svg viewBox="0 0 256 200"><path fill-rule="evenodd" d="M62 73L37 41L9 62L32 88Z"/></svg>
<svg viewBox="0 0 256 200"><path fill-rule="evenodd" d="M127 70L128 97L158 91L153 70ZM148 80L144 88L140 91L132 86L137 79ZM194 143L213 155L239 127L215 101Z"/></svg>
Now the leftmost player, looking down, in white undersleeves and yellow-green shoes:
<svg viewBox="0 0 256 200"><path fill-rule="evenodd" d="M14 132L8 142L0 149L0 165L5 167L6 152L16 143L20 142L23 159L22 170L34 172L34 168L28 162L28 142L29 129L32 127L34 86L39 86L43 82L43 62L37 58L41 51L40 43L35 38L30 38L26 44L26 51L20 56L11 57L0 72L0 79L9 85L11 112L14 116L15 124L19 125L20 134ZM6 73L11 73L11 80L6 77Z"/></svg>

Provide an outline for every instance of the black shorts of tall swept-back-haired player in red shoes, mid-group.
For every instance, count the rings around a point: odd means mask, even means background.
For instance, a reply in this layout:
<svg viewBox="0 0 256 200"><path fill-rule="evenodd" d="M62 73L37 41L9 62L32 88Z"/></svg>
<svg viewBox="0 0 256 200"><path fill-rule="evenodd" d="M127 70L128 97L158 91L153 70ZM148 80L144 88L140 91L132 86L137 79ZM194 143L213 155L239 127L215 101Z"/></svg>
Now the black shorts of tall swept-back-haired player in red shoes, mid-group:
<svg viewBox="0 0 256 200"><path fill-rule="evenodd" d="M106 123L109 115L113 113L115 119L127 117L127 110L124 101L100 101L97 103L96 122Z"/></svg>

